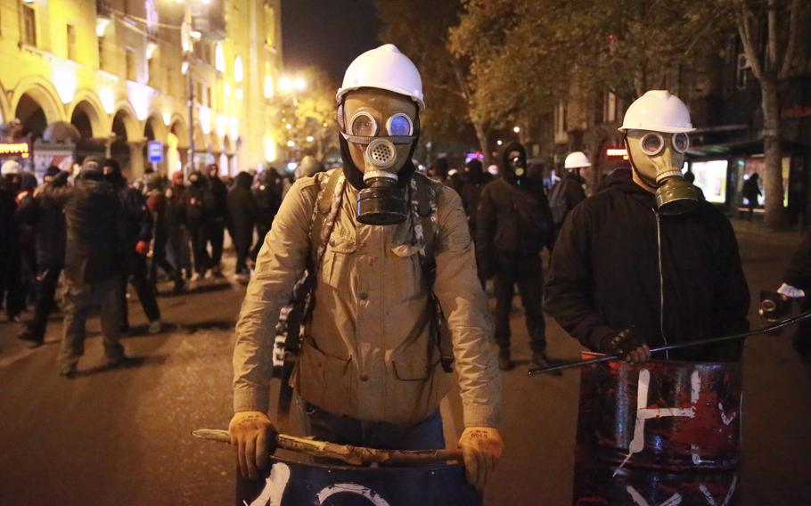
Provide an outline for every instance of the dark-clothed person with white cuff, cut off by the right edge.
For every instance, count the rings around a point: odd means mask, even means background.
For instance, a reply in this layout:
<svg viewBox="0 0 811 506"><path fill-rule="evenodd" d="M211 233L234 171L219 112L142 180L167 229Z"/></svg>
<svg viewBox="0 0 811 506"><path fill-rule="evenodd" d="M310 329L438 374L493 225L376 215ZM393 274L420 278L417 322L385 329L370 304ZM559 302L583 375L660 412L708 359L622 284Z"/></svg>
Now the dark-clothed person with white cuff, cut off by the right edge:
<svg viewBox="0 0 811 506"><path fill-rule="evenodd" d="M811 311L811 231L806 233L791 257L777 293L784 299L798 298L800 310ZM791 344L811 375L811 322L799 323Z"/></svg>

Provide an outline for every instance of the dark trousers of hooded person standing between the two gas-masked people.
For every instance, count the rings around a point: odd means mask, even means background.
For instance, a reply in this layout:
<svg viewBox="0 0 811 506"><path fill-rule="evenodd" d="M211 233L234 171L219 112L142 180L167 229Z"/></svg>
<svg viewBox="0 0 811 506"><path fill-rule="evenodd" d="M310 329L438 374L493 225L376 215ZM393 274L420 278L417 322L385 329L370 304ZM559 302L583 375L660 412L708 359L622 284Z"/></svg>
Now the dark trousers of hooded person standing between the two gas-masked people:
<svg viewBox="0 0 811 506"><path fill-rule="evenodd" d="M496 343L503 350L510 349L510 311L516 284L527 316L529 347L535 353L544 352L544 270L539 255L499 255L496 258Z"/></svg>

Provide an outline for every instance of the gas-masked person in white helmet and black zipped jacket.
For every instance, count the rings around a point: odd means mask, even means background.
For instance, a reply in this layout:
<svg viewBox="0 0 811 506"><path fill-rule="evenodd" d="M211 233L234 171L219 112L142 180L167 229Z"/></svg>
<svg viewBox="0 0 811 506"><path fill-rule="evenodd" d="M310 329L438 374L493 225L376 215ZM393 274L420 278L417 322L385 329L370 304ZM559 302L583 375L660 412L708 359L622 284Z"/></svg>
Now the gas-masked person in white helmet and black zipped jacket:
<svg viewBox="0 0 811 506"><path fill-rule="evenodd" d="M632 167L569 214L553 249L546 309L586 347L641 363L649 347L749 329L750 297L729 220L682 177L684 102L650 91L620 129ZM742 341L660 357L738 361Z"/></svg>

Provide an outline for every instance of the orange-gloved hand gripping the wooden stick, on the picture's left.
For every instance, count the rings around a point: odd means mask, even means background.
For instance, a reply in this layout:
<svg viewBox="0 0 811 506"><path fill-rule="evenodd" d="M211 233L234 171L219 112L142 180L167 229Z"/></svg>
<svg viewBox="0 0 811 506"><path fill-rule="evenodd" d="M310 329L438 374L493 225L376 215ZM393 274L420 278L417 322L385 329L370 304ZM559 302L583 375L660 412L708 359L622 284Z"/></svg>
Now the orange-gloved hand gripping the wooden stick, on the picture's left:
<svg viewBox="0 0 811 506"><path fill-rule="evenodd" d="M256 479L276 451L276 428L264 412L235 412L228 424L231 445L243 477Z"/></svg>

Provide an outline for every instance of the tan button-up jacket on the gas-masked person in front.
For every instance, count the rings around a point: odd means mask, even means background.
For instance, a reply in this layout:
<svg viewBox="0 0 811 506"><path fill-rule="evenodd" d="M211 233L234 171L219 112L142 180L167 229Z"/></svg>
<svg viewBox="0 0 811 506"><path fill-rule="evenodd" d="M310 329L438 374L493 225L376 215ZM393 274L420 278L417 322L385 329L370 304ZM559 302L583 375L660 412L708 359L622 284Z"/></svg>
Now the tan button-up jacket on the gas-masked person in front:
<svg viewBox="0 0 811 506"><path fill-rule="evenodd" d="M312 211L328 174L293 184L259 252L236 326L235 412L267 411L274 326L304 270ZM436 185L433 289L453 335L464 423L493 427L501 378L490 344L487 298L476 275L462 202L453 190ZM442 370L430 339L429 287L412 244L412 223L373 226L357 223L355 216L356 189L347 184L292 384L328 412L415 423L438 408L453 375Z"/></svg>

